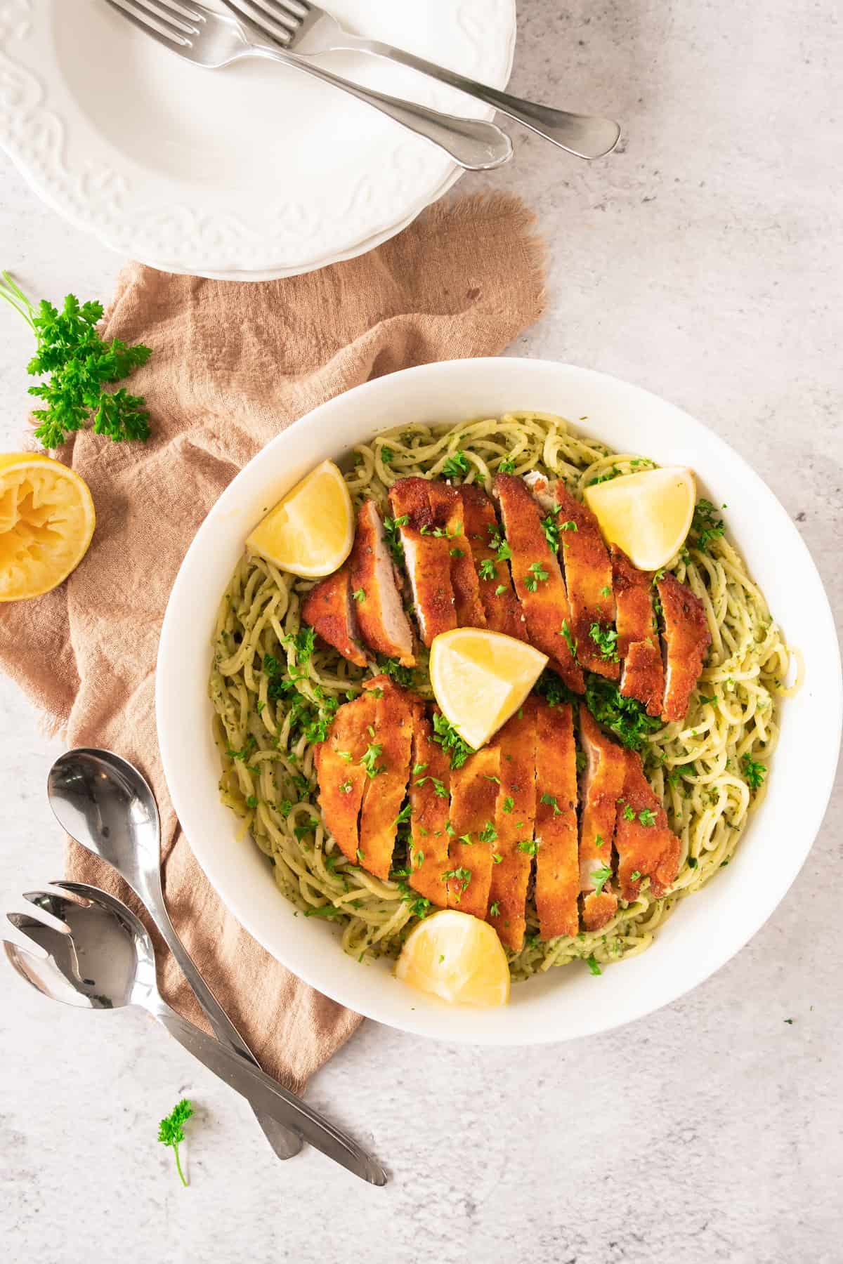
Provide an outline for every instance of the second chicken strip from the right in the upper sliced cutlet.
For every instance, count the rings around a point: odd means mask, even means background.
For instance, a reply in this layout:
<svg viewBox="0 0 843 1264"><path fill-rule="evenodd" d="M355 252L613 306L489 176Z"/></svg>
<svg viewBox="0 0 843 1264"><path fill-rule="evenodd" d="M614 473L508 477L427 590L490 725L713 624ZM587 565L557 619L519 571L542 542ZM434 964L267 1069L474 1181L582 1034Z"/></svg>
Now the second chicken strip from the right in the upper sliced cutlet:
<svg viewBox="0 0 843 1264"><path fill-rule="evenodd" d="M638 570L622 549L612 545L612 583L618 612L618 655L623 661L621 693L643 703L648 715L661 715L665 667L652 602L652 575Z"/></svg>

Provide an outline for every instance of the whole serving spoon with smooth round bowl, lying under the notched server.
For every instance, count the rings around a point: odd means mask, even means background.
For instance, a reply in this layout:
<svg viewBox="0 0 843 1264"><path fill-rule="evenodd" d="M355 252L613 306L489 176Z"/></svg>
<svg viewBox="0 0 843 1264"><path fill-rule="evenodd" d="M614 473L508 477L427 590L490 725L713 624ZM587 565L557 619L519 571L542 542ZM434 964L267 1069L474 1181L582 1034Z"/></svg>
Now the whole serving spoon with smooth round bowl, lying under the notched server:
<svg viewBox="0 0 843 1264"><path fill-rule="evenodd" d="M258 1059L200 975L169 920L161 887L158 805L144 776L112 751L81 747L56 760L47 777L47 796L59 825L82 847L112 865L147 906L217 1039L257 1067ZM258 1122L279 1159L298 1154L300 1136L276 1120L258 1116Z"/></svg>

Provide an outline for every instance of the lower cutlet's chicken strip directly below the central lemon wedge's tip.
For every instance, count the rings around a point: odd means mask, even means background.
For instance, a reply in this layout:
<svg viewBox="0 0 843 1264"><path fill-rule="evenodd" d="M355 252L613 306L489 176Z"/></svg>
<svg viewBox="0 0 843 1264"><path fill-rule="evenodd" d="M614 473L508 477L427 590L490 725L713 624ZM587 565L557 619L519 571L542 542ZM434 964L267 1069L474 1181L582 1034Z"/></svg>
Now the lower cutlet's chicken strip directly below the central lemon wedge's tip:
<svg viewBox="0 0 843 1264"><path fill-rule="evenodd" d="M447 906L475 918L485 918L489 906L499 766L497 746L487 746L451 771Z"/></svg>

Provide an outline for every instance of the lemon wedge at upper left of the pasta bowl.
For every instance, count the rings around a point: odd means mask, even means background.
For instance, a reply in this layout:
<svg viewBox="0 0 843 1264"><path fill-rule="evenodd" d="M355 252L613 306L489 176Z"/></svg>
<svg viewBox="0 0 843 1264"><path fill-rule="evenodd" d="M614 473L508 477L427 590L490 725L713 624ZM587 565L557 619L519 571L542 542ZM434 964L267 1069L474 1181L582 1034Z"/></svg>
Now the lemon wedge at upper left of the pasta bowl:
<svg viewBox="0 0 843 1264"><path fill-rule="evenodd" d="M311 470L246 540L252 552L305 579L331 575L353 544L351 497L334 461Z"/></svg>

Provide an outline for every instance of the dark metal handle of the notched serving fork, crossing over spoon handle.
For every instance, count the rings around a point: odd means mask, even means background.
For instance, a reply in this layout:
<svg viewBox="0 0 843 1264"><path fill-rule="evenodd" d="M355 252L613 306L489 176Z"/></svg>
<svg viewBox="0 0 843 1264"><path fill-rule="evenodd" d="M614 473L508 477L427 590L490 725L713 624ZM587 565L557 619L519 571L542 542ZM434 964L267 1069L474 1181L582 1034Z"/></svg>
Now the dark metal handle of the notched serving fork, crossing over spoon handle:
<svg viewBox="0 0 843 1264"><path fill-rule="evenodd" d="M268 1115L284 1127L291 1127L321 1150L335 1163L340 1163L369 1184L385 1184L387 1176L379 1163L358 1143L335 1127L307 1102L287 1088L282 1088L259 1067L253 1067L227 1045L200 1031L163 1001L155 1001L149 1010L188 1053L225 1081L235 1092L252 1102L255 1114Z"/></svg>

